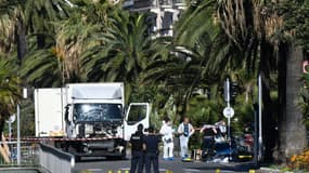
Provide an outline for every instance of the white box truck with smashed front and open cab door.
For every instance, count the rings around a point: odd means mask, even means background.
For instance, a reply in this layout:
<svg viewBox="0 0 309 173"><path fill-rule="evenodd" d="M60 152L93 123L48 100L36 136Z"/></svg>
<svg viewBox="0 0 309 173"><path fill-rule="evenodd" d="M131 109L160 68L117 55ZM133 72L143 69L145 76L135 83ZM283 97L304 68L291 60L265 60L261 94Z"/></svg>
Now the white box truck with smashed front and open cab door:
<svg viewBox="0 0 309 173"><path fill-rule="evenodd" d="M126 157L126 142L150 105L125 106L124 83L73 83L35 90L36 136L80 157Z"/></svg>

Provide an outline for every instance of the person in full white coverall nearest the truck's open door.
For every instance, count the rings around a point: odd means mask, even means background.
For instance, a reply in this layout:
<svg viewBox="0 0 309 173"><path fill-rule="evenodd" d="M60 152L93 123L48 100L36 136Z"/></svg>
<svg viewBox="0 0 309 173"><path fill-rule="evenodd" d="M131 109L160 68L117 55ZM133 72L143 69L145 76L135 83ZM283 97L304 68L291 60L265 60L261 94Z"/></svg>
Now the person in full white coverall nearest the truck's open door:
<svg viewBox="0 0 309 173"><path fill-rule="evenodd" d="M169 118L165 118L159 133L163 135L163 159L173 160L173 130Z"/></svg>

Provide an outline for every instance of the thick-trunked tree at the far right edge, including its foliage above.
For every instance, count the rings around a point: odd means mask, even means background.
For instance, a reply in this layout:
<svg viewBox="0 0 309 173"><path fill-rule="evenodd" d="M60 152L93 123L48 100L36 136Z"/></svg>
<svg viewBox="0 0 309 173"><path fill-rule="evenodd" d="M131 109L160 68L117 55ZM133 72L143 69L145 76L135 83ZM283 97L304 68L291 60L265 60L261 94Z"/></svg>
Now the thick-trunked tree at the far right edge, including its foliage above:
<svg viewBox="0 0 309 173"><path fill-rule="evenodd" d="M279 90L281 111L281 155L288 158L308 145L300 107L296 105L302 88L302 61L308 56L308 1L283 1L278 11L283 17L287 41L280 46ZM308 57L307 57L308 58ZM283 160L285 161L285 160Z"/></svg>

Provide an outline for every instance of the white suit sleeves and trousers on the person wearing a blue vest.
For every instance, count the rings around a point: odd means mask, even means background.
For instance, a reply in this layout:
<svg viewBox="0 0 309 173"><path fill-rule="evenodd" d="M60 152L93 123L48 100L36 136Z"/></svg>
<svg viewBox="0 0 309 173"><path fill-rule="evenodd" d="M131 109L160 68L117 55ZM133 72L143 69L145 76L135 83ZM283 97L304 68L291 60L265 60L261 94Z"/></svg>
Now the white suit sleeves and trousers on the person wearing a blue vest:
<svg viewBox="0 0 309 173"><path fill-rule="evenodd" d="M180 155L181 155L182 158L186 158L188 157L189 138L194 133L194 128L192 127L192 124L188 123L188 125L189 125L189 134L188 135L184 135L184 124L183 124L183 122L178 128L178 133L181 134L179 136L179 141L180 141Z"/></svg>

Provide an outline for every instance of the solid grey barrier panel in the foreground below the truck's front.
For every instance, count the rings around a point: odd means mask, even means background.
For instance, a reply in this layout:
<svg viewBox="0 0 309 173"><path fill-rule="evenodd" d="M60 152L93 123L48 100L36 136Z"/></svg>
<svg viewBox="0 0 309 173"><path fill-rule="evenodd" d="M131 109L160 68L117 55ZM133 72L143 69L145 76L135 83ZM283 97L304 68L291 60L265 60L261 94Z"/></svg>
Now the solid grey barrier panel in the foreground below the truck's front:
<svg viewBox="0 0 309 173"><path fill-rule="evenodd" d="M70 173L75 165L74 156L46 144L39 144L40 167L52 173Z"/></svg>

